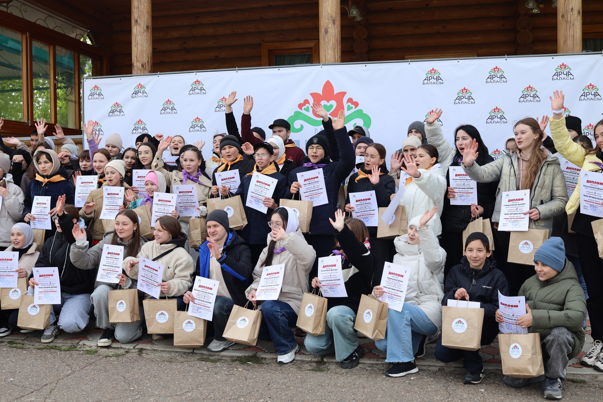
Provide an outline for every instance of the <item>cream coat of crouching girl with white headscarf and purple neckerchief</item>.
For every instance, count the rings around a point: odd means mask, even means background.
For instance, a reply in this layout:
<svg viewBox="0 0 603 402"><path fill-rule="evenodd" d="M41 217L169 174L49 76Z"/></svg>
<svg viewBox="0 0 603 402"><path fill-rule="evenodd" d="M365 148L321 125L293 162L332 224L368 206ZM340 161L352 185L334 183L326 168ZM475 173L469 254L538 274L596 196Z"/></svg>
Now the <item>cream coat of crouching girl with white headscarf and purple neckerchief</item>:
<svg viewBox="0 0 603 402"><path fill-rule="evenodd" d="M270 243L270 233L268 233L267 243ZM274 254L272 265L285 264L285 273L283 274L283 286L280 288L279 298L291 308L298 312L301 307L301 298L305 292L308 292L308 274L314 265L316 251L306 242L297 229L294 233L289 233L283 240L279 240L274 245L274 249L285 247L286 251ZM264 248L257 260L256 268L253 270L253 283L245 291L245 296L249 297L251 290L256 290L262 278L262 261L266 258L268 247Z"/></svg>

